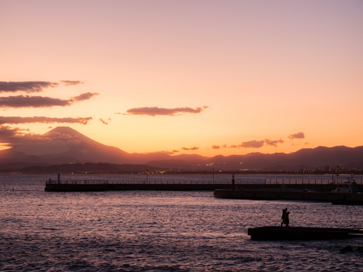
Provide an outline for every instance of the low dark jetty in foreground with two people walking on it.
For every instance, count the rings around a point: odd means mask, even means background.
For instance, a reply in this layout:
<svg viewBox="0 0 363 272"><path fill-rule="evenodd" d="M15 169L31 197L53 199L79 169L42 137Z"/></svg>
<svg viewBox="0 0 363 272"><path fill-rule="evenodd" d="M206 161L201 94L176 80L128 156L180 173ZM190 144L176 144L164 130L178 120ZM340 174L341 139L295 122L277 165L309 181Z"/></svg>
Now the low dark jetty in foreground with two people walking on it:
<svg viewBox="0 0 363 272"><path fill-rule="evenodd" d="M266 226L248 228L247 234L251 240L327 240L363 238L360 228L314 228L314 227L284 227Z"/></svg>

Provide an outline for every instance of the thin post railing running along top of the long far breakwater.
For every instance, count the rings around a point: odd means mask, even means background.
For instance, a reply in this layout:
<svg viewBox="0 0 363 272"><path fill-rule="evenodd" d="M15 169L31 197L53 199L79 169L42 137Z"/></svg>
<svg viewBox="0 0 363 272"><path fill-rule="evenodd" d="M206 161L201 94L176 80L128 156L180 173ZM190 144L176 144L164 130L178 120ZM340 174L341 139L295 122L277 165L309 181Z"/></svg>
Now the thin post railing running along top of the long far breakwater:
<svg viewBox="0 0 363 272"><path fill-rule="evenodd" d="M234 184L342 184L347 180L329 179L266 179L263 181L235 181ZM206 180L46 180L46 184L232 184L232 181L206 181ZM362 185L362 180L356 180Z"/></svg>

